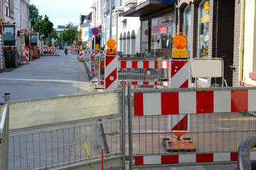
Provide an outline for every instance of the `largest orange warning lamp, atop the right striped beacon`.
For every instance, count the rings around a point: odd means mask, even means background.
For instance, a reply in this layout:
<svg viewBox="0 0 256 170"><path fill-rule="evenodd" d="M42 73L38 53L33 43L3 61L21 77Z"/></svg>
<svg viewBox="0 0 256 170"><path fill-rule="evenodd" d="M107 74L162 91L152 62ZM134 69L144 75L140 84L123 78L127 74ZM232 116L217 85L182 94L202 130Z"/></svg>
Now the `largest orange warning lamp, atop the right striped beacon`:
<svg viewBox="0 0 256 170"><path fill-rule="evenodd" d="M173 38L174 50L172 52L173 59L188 59L188 38L185 33L176 33Z"/></svg>

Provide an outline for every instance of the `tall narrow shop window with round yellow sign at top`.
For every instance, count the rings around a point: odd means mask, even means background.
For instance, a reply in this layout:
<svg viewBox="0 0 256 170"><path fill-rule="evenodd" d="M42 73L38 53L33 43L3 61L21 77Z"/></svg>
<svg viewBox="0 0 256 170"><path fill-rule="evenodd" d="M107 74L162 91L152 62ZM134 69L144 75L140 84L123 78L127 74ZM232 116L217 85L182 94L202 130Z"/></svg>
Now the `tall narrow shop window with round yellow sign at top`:
<svg viewBox="0 0 256 170"><path fill-rule="evenodd" d="M209 1L201 1L198 8L198 57L208 57L209 46Z"/></svg>

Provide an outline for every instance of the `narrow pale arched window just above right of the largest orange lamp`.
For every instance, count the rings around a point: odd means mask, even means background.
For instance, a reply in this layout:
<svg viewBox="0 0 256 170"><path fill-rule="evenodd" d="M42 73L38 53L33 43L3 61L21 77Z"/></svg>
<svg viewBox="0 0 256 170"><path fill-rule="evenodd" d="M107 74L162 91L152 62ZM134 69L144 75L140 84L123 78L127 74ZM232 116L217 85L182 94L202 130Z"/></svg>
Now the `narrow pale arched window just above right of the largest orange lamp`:
<svg viewBox="0 0 256 170"><path fill-rule="evenodd" d="M191 6L187 6L184 10L184 19L183 19L183 30L184 33L188 37L188 45L186 49L188 50L188 57L190 56L190 48L191 48Z"/></svg>

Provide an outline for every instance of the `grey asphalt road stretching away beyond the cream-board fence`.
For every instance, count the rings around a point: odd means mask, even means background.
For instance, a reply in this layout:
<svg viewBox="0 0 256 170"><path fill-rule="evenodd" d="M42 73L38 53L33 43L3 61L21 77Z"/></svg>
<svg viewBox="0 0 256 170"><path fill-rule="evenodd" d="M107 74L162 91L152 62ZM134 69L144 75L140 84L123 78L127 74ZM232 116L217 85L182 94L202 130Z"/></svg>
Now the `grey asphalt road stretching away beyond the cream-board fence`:
<svg viewBox="0 0 256 170"><path fill-rule="evenodd" d="M29 64L0 72L0 96L11 93L11 101L48 98L92 92L85 64L77 55L41 56Z"/></svg>

